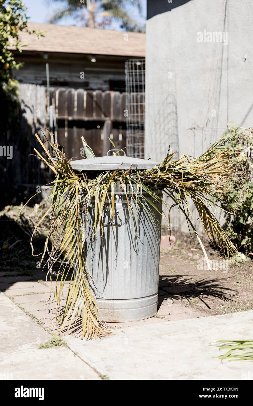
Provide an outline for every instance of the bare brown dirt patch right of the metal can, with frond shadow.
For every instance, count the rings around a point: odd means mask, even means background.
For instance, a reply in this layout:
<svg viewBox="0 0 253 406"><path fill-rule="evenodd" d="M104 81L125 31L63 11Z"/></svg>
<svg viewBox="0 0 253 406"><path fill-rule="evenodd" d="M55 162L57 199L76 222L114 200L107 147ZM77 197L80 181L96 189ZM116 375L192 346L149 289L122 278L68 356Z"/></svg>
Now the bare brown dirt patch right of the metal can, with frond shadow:
<svg viewBox="0 0 253 406"><path fill-rule="evenodd" d="M253 261L231 265L227 257L201 238L212 272L208 270L199 243L175 233L174 248L160 253L161 299L181 300L192 309L201 307L206 315L253 309Z"/></svg>

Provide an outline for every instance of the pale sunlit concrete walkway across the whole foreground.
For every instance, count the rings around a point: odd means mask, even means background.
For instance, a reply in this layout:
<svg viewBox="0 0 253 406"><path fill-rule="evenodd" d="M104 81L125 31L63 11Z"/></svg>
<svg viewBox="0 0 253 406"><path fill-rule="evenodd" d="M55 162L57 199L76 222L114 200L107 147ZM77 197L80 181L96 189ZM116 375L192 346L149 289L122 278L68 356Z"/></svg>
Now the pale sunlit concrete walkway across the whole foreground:
<svg viewBox="0 0 253 406"><path fill-rule="evenodd" d="M8 289L6 294L12 293L12 300L21 303L34 319L36 315L37 322L0 293L0 374L3 376L78 380L253 378L253 362L222 364L214 358L219 354L218 347L209 346L220 339L252 339L253 311L171 322L153 318L155 322L150 323L148 319L146 324L125 325L102 340L82 341L80 337L65 335L63 339L69 348L39 349L41 343L52 338L44 329L52 325L46 322L50 311L45 302L48 292L44 293L45 286L35 282L27 282L25 292L23 283L15 285L15 289L10 289L12 292ZM43 320L44 328L38 324L39 320Z"/></svg>

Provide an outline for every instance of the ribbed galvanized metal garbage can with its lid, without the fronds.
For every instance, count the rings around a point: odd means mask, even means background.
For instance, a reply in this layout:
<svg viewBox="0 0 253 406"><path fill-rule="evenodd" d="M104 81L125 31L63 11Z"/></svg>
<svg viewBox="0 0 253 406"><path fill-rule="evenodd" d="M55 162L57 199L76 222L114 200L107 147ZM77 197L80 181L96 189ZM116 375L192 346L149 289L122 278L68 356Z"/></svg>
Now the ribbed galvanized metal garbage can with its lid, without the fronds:
<svg viewBox="0 0 253 406"><path fill-rule="evenodd" d="M126 170L131 165L135 170L149 169L157 164L121 155L108 156L108 153L106 157L71 162L74 170L92 171L94 177L107 170ZM160 202L150 197L149 200L162 211ZM113 225L107 202L102 214L104 238L101 230L96 237L86 238L86 263L97 289L97 305L107 322L143 320L157 312L161 215L149 205L154 213L152 220L141 204L137 207L138 214L136 205L132 205L134 224L125 193L117 190ZM84 218L86 236L91 235L94 226L94 211L95 201L91 200L88 216Z"/></svg>

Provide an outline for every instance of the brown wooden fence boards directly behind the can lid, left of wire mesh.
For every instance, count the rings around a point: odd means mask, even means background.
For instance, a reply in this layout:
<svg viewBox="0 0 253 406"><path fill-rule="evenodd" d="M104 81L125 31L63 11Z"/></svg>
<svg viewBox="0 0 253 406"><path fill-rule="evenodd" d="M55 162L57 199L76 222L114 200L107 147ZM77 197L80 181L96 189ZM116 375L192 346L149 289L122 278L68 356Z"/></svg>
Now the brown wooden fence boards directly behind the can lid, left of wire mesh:
<svg viewBox="0 0 253 406"><path fill-rule="evenodd" d="M50 89L55 107L56 136L65 153L81 159L81 136L96 156L112 148L109 139L121 149L126 145L126 93Z"/></svg>

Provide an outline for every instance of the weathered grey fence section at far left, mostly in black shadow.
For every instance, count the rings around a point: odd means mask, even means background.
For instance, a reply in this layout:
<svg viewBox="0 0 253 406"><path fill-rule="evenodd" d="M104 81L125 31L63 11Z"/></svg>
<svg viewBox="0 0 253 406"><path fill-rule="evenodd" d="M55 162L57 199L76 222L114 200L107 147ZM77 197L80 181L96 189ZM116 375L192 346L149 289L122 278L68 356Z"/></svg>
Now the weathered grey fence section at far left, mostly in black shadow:
<svg viewBox="0 0 253 406"><path fill-rule="evenodd" d="M36 84L19 84L19 103L9 119L7 131L0 131L0 145L12 147L12 159L1 157L1 206L24 203L36 192L36 186L47 184L50 174L35 157L34 148L41 150L35 132L45 141L43 130L47 125L46 89ZM10 117L10 111L6 113ZM21 188L22 185L22 188ZM32 192L26 192L32 186ZM22 190L21 190L21 189ZM14 200L13 200L14 199Z"/></svg>

